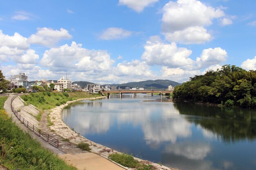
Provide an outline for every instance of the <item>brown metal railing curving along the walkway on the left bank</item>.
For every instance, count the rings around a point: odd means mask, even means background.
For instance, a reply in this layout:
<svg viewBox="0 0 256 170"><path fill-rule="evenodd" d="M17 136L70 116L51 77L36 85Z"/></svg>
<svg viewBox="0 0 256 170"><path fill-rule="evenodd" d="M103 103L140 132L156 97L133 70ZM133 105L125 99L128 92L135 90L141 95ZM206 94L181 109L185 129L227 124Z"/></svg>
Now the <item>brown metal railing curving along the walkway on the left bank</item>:
<svg viewBox="0 0 256 170"><path fill-rule="evenodd" d="M23 95L23 94L22 94ZM22 124L24 124L24 126L26 126L27 128L29 128L31 131L33 131L36 135L38 135L39 137L41 137L42 139L44 139L45 141L47 141L49 144L51 144L52 146L58 148L58 139L55 139L54 137L50 136L49 134L43 132L42 130L40 130L39 128L37 128L36 126L34 126L33 124L29 123L29 121L27 121L24 117L22 117L16 110L15 108L12 106L12 102L13 100L17 97L18 95L15 95L11 98L11 110L13 111L14 115L16 115L16 117L21 121Z"/></svg>

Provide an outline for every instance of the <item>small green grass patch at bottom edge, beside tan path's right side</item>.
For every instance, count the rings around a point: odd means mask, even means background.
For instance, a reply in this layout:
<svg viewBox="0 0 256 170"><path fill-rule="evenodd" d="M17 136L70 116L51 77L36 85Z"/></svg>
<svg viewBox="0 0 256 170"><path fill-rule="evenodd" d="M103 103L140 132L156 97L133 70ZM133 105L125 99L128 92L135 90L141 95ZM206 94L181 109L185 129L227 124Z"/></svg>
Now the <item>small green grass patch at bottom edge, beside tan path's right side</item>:
<svg viewBox="0 0 256 170"><path fill-rule="evenodd" d="M108 158L128 168L136 168L137 170L153 170L153 166L139 163L139 161L135 160L132 155L114 153L109 155Z"/></svg>

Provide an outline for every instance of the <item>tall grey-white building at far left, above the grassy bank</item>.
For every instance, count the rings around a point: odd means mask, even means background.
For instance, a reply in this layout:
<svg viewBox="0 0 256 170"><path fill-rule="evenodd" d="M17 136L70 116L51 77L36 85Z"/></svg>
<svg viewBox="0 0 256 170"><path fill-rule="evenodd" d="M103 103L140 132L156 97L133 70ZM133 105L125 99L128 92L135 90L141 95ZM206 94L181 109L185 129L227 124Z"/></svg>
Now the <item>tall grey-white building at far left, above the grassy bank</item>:
<svg viewBox="0 0 256 170"><path fill-rule="evenodd" d="M28 92L31 91L31 82L29 82L29 79L27 75L25 75L25 73L20 73L19 75L13 75L9 77L8 80L10 82L9 90L22 86L26 88Z"/></svg>

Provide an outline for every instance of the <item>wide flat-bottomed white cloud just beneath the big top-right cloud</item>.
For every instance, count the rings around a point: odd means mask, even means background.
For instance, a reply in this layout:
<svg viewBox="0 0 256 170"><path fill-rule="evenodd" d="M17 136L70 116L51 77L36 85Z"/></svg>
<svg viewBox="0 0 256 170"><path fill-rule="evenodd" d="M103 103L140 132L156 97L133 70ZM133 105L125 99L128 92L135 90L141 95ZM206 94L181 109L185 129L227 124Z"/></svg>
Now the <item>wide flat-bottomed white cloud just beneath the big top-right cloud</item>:
<svg viewBox="0 0 256 170"><path fill-rule="evenodd" d="M202 44L211 40L211 34L202 26L188 27L182 31L165 33L166 40L182 44Z"/></svg>

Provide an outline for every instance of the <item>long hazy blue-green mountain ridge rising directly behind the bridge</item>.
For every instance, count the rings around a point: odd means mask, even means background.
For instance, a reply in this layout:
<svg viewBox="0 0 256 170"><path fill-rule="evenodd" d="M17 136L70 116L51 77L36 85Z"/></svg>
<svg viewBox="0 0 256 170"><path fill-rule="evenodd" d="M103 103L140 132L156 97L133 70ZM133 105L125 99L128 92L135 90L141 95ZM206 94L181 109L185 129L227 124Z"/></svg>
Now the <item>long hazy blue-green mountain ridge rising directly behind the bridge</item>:
<svg viewBox="0 0 256 170"><path fill-rule="evenodd" d="M106 86L107 84L103 85ZM151 88L154 90L164 90L168 88L168 86L172 85L173 87L180 85L178 82L174 82L168 79L157 79L157 80L146 80L142 82L129 82L129 83L124 83L124 84L108 84L110 86L117 86L120 88L125 88L125 87L139 87L139 88L144 88L145 90L150 90Z"/></svg>

